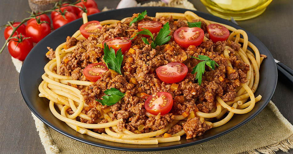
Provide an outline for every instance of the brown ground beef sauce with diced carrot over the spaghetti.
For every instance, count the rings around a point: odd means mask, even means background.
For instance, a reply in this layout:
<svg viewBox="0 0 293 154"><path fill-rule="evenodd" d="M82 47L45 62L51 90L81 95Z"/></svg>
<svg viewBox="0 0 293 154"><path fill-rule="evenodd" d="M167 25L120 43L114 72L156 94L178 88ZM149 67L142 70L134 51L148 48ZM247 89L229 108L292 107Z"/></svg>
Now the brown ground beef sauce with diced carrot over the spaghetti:
<svg viewBox="0 0 293 154"><path fill-rule="evenodd" d="M137 16L134 14L132 18ZM169 22L171 40L164 45L156 46L155 49L151 45L146 45L142 42L142 36L138 35L137 38L132 40L131 48L136 53L131 54L126 52L122 62L122 75L112 76L110 71L106 71L101 75L101 79L90 86L79 86L81 94L85 99L85 103L89 107L85 107L82 113L87 114L91 120L79 118L78 120L84 123L105 123L106 120L97 119L102 115L95 107L100 105L102 109L109 108L113 112L112 119L123 119L122 123L118 124L118 129L122 130L123 127L137 133L139 126L144 126L140 131L142 133L157 131L165 128L169 123L174 120L174 115L181 115L184 111L201 111L208 113L216 106L215 96L220 96L224 101L233 101L236 97L236 88L240 83L246 83L246 72L249 70L249 65L241 62L241 60L234 55L234 50L239 50L240 44L230 41L222 41L213 43L211 40L201 43L198 47L189 46L183 48L174 41L173 33L176 29L187 26L182 21L174 21L171 18L143 18L140 21L153 20L165 24ZM85 40L76 40L73 37L67 37L66 47L76 45L72 54L65 56L61 59L59 69L60 75L72 76L75 80L88 81L83 75L83 69L91 63L104 63L103 49L98 45L103 41L114 37L128 37L131 38L137 30L137 22L129 25L131 20L128 19L124 23L118 22L117 24L105 25L95 35L90 36ZM194 21L197 22L197 21ZM207 34L207 24L201 21L201 28ZM154 38L156 34L154 34ZM228 66L227 60L221 55L225 46L231 47L229 49L230 61L233 69L236 70L232 74L227 74L226 67ZM47 57L54 58L54 53L51 48L48 48L50 53ZM191 74L192 68L195 67L200 60L194 59L188 55L198 57L198 55L206 55L211 60L214 60L219 67L212 70L205 67L205 72L202 75L202 83L199 86L195 79L196 74ZM132 57L133 60L128 60ZM64 60L66 59L66 60ZM180 81L176 90L171 89L171 84L162 82L156 75L156 68L166 65L170 62L184 63L188 67L188 74ZM220 81L220 77L225 79ZM137 80L137 84L130 82L131 78ZM68 83L68 85L71 85ZM72 86L72 85L71 85ZM76 86L76 85L75 85ZM77 87L77 86L76 86ZM110 88L116 88L122 93L126 93L124 98L118 103L111 106L102 106L95 99L101 99L103 91ZM152 95L155 92L165 91L169 92L173 97L173 107L168 114L156 115L148 117L145 115L144 102L145 97L140 97L141 93ZM68 109L68 113L72 114L72 110ZM212 128L206 123L201 123L199 117L187 119L182 126L176 124L167 133L175 134L182 129L186 132L186 139L194 138L202 135L205 131ZM95 132L105 132L104 129L93 129Z"/></svg>

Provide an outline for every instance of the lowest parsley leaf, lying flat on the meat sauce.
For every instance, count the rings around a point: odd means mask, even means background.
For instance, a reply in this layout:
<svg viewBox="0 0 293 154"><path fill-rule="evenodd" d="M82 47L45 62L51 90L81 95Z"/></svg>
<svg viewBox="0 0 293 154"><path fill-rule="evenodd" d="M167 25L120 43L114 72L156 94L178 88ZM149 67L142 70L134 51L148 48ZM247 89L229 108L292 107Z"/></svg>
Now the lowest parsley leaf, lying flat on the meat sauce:
<svg viewBox="0 0 293 154"><path fill-rule="evenodd" d="M122 93L116 88L110 88L104 91L106 95L104 95L103 99L96 99L96 101L100 102L102 105L113 105L117 103L120 99L122 99L125 93Z"/></svg>

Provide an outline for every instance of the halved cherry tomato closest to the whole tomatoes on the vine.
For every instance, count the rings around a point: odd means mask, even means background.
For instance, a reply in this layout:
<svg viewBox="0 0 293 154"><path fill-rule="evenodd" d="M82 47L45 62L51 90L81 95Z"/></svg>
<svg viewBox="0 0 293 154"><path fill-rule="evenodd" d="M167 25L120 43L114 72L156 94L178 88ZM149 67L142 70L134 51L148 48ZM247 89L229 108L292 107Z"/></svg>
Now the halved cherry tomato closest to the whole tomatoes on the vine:
<svg viewBox="0 0 293 154"><path fill-rule="evenodd" d="M99 21L90 21L80 26L79 30L82 36L88 38L90 34L99 31L103 26L101 26Z"/></svg>

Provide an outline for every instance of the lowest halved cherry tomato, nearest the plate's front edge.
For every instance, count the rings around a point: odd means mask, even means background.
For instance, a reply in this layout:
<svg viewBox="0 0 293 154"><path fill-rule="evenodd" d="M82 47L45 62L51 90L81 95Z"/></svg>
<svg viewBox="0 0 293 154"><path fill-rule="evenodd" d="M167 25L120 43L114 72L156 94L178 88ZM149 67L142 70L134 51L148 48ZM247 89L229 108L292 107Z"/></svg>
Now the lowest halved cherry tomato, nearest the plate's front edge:
<svg viewBox="0 0 293 154"><path fill-rule="evenodd" d="M168 92L157 92L150 95L144 103L146 111L153 115L158 115L159 113L161 113L161 115L165 115L171 111L172 106L173 98Z"/></svg>

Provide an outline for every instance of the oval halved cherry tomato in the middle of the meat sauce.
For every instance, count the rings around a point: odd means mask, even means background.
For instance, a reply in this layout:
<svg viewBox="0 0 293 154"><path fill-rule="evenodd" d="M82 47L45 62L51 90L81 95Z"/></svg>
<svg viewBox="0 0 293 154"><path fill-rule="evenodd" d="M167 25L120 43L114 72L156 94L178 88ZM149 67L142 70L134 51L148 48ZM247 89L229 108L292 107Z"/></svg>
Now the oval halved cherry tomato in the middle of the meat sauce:
<svg viewBox="0 0 293 154"><path fill-rule="evenodd" d="M185 78L187 72L187 66L179 62L171 62L156 69L159 79L166 83L180 82Z"/></svg>

